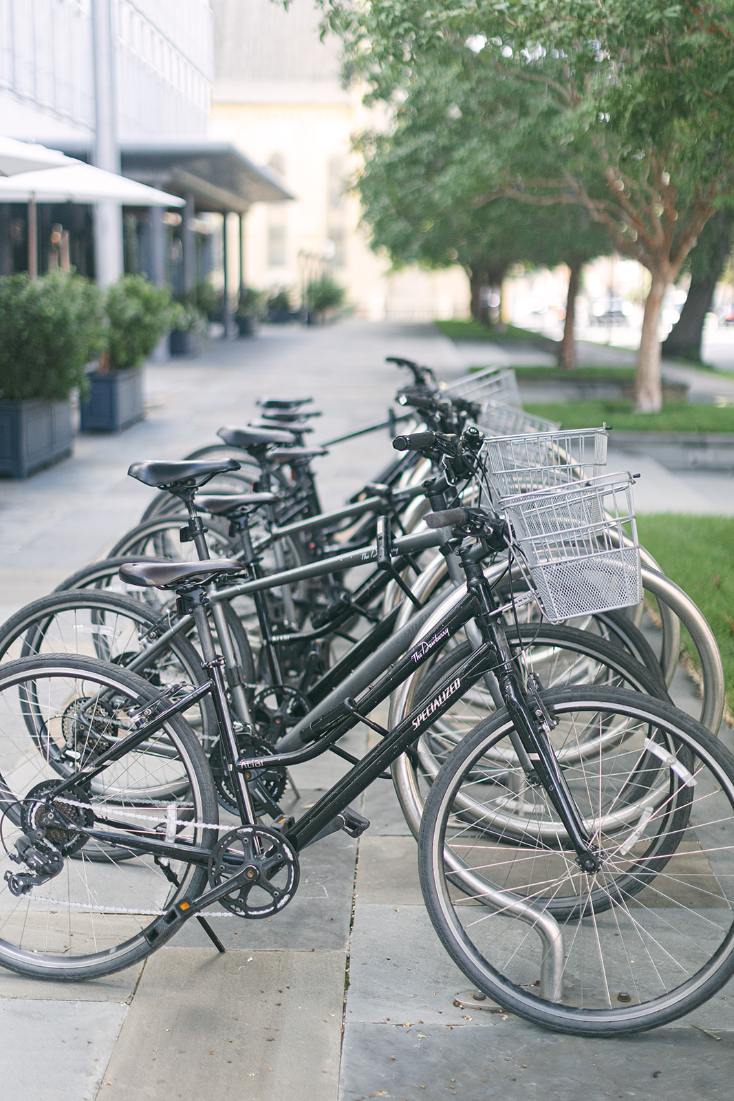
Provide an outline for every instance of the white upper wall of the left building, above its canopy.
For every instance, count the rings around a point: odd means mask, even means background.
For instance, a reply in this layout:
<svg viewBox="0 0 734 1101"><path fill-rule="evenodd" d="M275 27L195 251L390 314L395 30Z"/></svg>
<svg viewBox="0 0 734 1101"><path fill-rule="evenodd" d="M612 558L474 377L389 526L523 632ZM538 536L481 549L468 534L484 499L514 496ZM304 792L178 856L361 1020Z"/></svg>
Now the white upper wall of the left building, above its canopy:
<svg viewBox="0 0 734 1101"><path fill-rule="evenodd" d="M0 0L0 126L24 140L92 142L95 22L113 35L120 141L207 134L209 0Z"/></svg>

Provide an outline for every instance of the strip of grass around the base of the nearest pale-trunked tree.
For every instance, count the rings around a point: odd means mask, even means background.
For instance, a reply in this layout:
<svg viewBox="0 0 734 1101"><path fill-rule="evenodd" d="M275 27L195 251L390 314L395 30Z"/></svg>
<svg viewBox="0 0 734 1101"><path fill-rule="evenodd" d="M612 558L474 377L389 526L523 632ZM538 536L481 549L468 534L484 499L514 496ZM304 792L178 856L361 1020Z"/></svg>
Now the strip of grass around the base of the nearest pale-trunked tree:
<svg viewBox="0 0 734 1101"><path fill-rule="evenodd" d="M589 428L606 423L620 432L730 432L734 433L734 405L689 405L670 402L661 413L633 413L632 401L528 402L524 408L563 428Z"/></svg>

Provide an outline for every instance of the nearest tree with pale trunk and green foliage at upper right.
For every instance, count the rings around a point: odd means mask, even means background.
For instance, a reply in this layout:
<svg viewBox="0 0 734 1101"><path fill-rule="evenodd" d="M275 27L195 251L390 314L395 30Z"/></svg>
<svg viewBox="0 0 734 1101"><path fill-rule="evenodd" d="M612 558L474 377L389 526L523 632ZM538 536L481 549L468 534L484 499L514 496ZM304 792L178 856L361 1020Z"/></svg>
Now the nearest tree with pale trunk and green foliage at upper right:
<svg viewBox="0 0 734 1101"><path fill-rule="evenodd" d="M660 404L657 324L668 284L732 186L734 0L321 0L373 98L421 68L492 72L456 171L528 204L579 204L651 274L637 407ZM472 54L473 62L465 62ZM543 154L543 155L540 155Z"/></svg>

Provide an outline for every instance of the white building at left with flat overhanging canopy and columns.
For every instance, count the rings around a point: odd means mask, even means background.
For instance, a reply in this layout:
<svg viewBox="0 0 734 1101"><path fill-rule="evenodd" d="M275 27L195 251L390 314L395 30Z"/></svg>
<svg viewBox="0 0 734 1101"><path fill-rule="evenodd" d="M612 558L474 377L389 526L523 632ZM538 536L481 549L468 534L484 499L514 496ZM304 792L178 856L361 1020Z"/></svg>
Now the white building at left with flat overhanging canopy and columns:
<svg viewBox="0 0 734 1101"><path fill-rule="evenodd" d="M40 205L41 272L61 233L81 274L107 284L123 268L140 270L190 294L199 260L211 263L197 233L217 228L200 215L242 218L252 203L289 198L270 173L209 137L212 36L210 0L0 0L0 132L186 199L183 216L113 203ZM0 273L29 263L28 217L22 205L0 204Z"/></svg>

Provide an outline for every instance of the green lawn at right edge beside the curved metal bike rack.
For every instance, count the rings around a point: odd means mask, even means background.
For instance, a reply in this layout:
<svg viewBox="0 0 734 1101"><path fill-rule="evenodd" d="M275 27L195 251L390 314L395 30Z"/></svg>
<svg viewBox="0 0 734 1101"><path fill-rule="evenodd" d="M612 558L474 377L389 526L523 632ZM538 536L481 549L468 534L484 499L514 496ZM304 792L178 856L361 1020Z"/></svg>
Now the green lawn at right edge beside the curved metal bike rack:
<svg viewBox="0 0 734 1101"><path fill-rule="evenodd" d="M699 606L724 663L726 706L734 712L734 517L671 513L638 516L639 539ZM683 645L695 661L687 633Z"/></svg>

